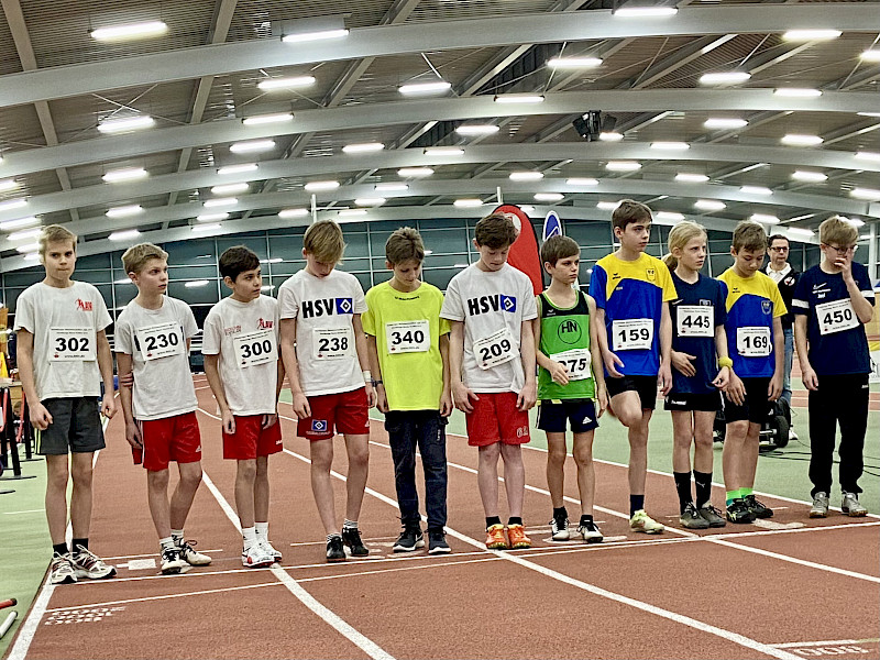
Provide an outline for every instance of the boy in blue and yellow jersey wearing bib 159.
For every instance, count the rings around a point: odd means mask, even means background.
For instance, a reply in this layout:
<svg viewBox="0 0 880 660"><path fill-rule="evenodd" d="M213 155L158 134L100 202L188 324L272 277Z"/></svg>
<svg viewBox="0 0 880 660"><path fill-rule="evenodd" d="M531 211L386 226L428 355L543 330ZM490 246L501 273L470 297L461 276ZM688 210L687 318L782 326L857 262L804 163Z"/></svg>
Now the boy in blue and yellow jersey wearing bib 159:
<svg viewBox="0 0 880 660"><path fill-rule="evenodd" d="M675 286L666 264L645 254L651 209L624 199L614 210L612 226L620 249L596 262L590 279L600 320L596 339L612 409L629 429L629 527L660 534L663 526L645 513L648 422L658 385L663 396L672 386L669 301L676 297Z"/></svg>

